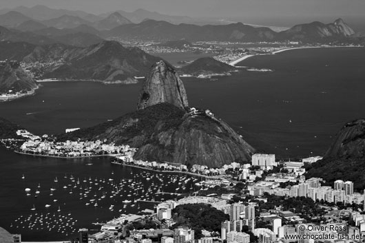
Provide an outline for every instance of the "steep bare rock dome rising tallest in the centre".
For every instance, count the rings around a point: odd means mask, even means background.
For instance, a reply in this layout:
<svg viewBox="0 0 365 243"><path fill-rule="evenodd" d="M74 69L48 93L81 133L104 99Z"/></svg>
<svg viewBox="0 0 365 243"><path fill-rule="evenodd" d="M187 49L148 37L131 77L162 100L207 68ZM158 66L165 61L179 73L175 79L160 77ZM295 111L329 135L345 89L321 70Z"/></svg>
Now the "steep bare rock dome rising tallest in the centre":
<svg viewBox="0 0 365 243"><path fill-rule="evenodd" d="M158 103L170 103L182 109L189 106L183 81L174 68L163 61L152 66L140 92L137 109Z"/></svg>

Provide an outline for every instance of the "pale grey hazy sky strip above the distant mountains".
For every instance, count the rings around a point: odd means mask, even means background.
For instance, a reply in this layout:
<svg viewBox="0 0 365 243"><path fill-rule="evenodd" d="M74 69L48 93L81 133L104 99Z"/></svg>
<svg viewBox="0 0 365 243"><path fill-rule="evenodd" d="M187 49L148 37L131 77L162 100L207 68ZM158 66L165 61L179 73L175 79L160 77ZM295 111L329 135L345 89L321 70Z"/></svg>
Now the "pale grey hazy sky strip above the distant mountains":
<svg viewBox="0 0 365 243"><path fill-rule="evenodd" d="M0 8L45 5L94 14L138 8L191 17L364 16L365 0L0 0Z"/></svg>

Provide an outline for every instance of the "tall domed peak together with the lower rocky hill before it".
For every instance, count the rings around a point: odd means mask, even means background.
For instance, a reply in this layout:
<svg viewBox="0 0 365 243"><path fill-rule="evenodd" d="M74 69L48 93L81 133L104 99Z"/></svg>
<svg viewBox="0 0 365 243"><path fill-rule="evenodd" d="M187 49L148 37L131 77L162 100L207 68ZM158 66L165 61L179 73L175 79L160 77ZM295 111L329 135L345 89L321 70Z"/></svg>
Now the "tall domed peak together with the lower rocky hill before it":
<svg viewBox="0 0 365 243"><path fill-rule="evenodd" d="M160 61L150 72L138 110L86 129L60 134L60 140L107 140L137 147L134 158L185 165L221 167L249 162L255 151L227 123L209 110L187 107L183 82Z"/></svg>

